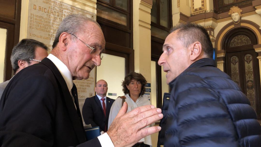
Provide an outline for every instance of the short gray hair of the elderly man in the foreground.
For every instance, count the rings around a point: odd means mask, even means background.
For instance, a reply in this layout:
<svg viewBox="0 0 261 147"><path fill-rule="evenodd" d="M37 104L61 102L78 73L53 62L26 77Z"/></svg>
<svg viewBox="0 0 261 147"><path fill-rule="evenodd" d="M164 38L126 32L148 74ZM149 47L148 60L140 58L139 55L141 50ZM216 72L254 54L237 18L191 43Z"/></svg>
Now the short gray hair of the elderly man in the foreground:
<svg viewBox="0 0 261 147"><path fill-rule="evenodd" d="M67 32L69 34L77 34L79 32L82 32L82 30L83 30L82 26L86 25L87 21L94 22L95 24L97 24L100 27L98 22L96 22L95 20L93 20L91 18L88 18L85 15L72 14L72 15L69 15L66 18L64 18L56 32L54 43L52 44L52 48L56 47L57 43L59 42L59 37L62 32Z"/></svg>

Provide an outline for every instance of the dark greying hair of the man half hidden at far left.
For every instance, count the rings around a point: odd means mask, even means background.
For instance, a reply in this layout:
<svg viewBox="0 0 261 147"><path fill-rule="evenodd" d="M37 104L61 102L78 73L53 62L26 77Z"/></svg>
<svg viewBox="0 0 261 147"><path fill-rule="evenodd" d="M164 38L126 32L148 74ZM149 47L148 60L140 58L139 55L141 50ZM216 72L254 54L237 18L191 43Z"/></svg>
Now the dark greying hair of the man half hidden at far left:
<svg viewBox="0 0 261 147"><path fill-rule="evenodd" d="M35 49L37 47L48 48L41 42L34 39L22 39L12 50L11 54L11 65L16 72L19 69L18 60L25 60L30 64L29 59L35 58Z"/></svg>

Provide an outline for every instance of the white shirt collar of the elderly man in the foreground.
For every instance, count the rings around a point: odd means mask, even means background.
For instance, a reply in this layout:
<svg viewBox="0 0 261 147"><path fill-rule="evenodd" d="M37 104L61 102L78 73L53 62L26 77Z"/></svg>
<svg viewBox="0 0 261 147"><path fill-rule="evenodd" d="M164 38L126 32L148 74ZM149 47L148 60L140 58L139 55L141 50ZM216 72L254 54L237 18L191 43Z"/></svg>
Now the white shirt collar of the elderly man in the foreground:
<svg viewBox="0 0 261 147"><path fill-rule="evenodd" d="M62 61L60 59L58 59L56 56L49 54L47 56L48 59L50 59L54 65L57 67L57 69L60 71L61 75L63 76L67 87L69 89L69 91L72 90L73 88L73 77L71 72L69 71L69 69L67 68L67 66L62 63Z"/></svg>

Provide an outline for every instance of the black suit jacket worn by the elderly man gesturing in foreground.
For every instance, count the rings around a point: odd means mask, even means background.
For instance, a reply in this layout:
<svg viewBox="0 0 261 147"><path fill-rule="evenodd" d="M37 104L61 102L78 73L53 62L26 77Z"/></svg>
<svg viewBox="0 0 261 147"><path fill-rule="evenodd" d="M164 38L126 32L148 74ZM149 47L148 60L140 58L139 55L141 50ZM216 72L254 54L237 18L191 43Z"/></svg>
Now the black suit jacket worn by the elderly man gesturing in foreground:
<svg viewBox="0 0 261 147"><path fill-rule="evenodd" d="M98 138L86 142L76 105L50 59L26 67L0 101L0 146L100 146Z"/></svg>

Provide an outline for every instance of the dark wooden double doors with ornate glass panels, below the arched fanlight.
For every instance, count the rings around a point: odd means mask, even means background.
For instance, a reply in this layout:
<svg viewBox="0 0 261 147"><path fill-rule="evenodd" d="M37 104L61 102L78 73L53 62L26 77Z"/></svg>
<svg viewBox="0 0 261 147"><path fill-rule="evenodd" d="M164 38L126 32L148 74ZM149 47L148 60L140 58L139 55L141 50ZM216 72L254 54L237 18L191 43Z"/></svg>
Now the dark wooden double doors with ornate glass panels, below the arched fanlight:
<svg viewBox="0 0 261 147"><path fill-rule="evenodd" d="M254 50L245 50L227 54L227 72L232 80L239 84L242 91L256 110L258 100L258 83L260 80L257 53Z"/></svg>

